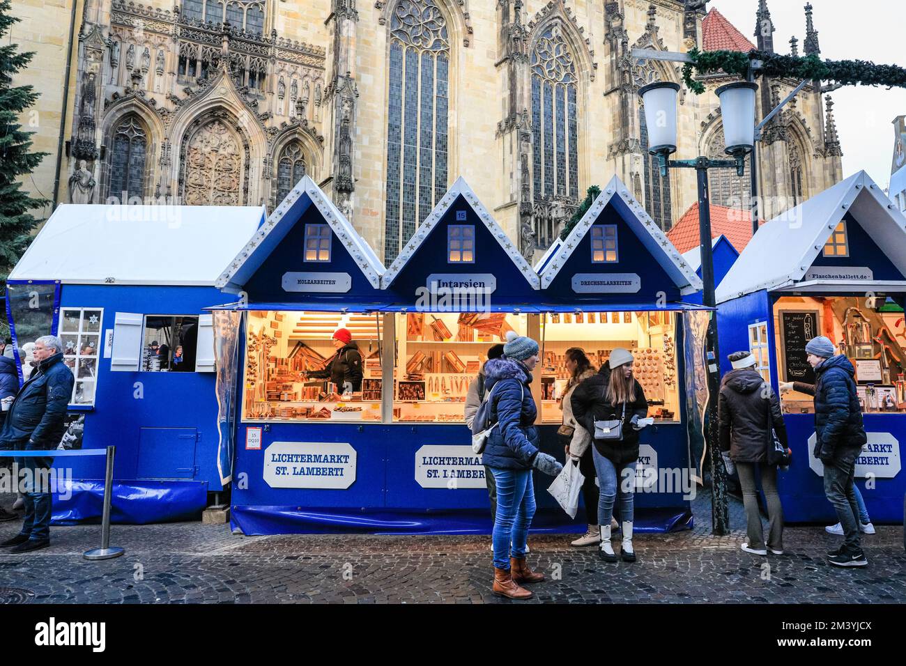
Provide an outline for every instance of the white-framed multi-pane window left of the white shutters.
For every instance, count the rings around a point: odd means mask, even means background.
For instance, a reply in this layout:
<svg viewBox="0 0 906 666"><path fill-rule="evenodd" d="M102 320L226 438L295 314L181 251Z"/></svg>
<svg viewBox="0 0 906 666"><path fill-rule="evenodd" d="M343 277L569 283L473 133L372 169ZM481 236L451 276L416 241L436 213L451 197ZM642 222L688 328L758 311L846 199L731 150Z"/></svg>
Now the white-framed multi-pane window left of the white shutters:
<svg viewBox="0 0 906 666"><path fill-rule="evenodd" d="M94 404L103 315L101 308L61 308L59 333L63 362L75 378L69 401L72 405Z"/></svg>

